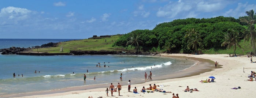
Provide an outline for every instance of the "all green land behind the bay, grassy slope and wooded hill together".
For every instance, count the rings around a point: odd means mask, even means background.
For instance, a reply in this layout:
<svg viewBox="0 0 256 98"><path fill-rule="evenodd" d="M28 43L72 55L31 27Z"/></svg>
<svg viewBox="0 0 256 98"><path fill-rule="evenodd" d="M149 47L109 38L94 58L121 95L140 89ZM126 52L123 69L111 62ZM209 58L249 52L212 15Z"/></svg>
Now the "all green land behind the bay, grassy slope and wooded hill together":
<svg viewBox="0 0 256 98"><path fill-rule="evenodd" d="M247 54L252 51L256 53L256 14L253 10L246 11L246 14L248 16L238 19L223 16L207 19L177 19L157 24L153 30L134 30L124 35L103 39L60 42L57 47L39 48L38 51L59 53L60 46L63 46L64 53L68 53L70 50L136 50L136 53L235 55ZM33 49L33 51L37 50Z"/></svg>

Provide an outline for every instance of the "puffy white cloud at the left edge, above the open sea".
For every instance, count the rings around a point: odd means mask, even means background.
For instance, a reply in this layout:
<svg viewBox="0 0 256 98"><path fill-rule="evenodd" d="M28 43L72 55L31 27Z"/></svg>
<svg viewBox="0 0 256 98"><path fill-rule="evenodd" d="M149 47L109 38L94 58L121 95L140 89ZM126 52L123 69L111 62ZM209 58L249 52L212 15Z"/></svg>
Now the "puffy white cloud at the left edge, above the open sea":
<svg viewBox="0 0 256 98"><path fill-rule="evenodd" d="M29 18L29 14L31 13L32 11L26 8L6 7L1 9L0 17L4 19L23 20Z"/></svg>

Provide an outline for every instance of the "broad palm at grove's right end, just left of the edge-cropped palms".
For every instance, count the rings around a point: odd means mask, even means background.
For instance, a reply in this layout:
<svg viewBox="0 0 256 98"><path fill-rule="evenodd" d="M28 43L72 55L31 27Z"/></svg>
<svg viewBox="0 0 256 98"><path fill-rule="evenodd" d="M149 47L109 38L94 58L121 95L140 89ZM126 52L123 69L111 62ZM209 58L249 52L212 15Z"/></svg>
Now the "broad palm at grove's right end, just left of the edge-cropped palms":
<svg viewBox="0 0 256 98"><path fill-rule="evenodd" d="M240 41L239 33L229 29L227 30L227 34L225 34L225 41L222 42L221 46L227 45L227 49L230 49L233 46L233 50L235 54L235 50L237 49L237 46L241 48L241 46L238 44L239 41Z"/></svg>

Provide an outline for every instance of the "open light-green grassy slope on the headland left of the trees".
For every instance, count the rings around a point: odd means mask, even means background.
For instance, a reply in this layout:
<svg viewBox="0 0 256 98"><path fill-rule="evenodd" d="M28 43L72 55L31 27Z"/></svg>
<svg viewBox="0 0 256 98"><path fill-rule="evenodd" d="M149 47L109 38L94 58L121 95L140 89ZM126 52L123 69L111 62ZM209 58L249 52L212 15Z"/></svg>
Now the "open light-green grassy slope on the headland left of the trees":
<svg viewBox="0 0 256 98"><path fill-rule="evenodd" d="M76 41L60 42L59 46L52 48L39 48L38 52L60 53L60 46L63 46L63 53L69 53L70 50L115 50L118 47L112 47L112 44L122 35L114 35L110 38L102 39L82 39ZM105 39L107 42L105 42ZM113 40L113 41L112 41ZM37 49L32 49L37 52Z"/></svg>

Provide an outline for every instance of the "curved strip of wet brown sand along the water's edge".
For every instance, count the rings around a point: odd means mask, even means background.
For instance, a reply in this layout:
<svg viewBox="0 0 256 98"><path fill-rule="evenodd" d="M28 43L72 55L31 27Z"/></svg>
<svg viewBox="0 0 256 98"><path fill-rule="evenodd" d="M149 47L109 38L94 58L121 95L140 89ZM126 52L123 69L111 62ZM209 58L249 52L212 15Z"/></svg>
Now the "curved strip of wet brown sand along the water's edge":
<svg viewBox="0 0 256 98"><path fill-rule="evenodd" d="M158 80L167 80L167 79L174 79L174 78L183 78L183 77L189 77L189 76L194 76L194 75L200 75L201 73L212 71L213 69L209 66L200 66L200 65L207 65L210 63L213 63L211 60L206 60L206 59L197 59L194 57L185 57L185 56L164 56L164 57L172 57L172 58L179 58L179 59L192 59L198 61L197 64L192 65L190 68L183 69L182 71L178 71L175 73L171 73L169 75L164 75L164 76L154 76L153 81L158 81ZM194 71L197 69L198 71ZM143 84L143 83L148 83L152 82L149 80L145 80L142 82L138 82L136 84ZM67 88L60 88L60 89L55 89L55 90L47 90L47 91L37 91L37 92L30 92L30 93L21 93L21 94L10 94L10 95L2 95L1 97L22 97L22 96L33 96L33 95L47 95L47 94L56 94L56 93L64 93L68 91L83 91L83 90L92 90L92 89L97 89L97 88L102 88L102 87L108 87L110 83L106 84L95 84L95 85L87 85L87 86L77 86L77 87L67 87ZM114 83L117 84L117 83ZM127 86L126 82L120 82L121 85Z"/></svg>

